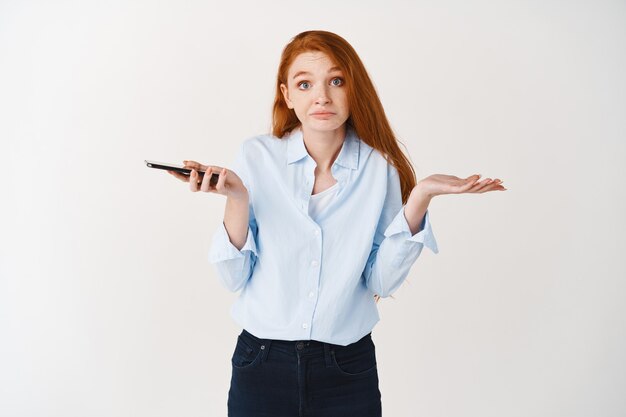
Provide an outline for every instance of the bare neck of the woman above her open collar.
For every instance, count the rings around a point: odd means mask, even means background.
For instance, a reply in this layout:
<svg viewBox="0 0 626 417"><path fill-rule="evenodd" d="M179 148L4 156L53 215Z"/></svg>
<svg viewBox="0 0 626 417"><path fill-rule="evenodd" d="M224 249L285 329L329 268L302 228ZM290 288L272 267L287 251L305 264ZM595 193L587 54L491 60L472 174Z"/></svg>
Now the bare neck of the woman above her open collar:
<svg viewBox="0 0 626 417"><path fill-rule="evenodd" d="M329 173L346 138L346 125L336 130L319 131L302 126L302 139L307 152L317 164L317 174Z"/></svg>

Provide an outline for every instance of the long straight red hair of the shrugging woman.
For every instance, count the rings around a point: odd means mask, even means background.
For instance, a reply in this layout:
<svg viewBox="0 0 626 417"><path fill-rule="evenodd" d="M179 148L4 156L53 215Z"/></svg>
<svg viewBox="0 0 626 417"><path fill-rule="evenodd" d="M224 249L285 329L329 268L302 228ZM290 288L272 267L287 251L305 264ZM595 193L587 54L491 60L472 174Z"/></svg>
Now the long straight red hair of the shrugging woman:
<svg viewBox="0 0 626 417"><path fill-rule="evenodd" d="M323 30L311 30L296 35L285 46L278 66L272 134L282 138L300 125L296 113L287 107L280 85L287 84L287 73L296 56L309 51L325 53L343 72L350 109L347 123L363 142L378 150L388 163L396 167L402 189L402 204L406 204L416 184L415 171L398 145L400 142L389 125L363 62L352 45L341 36Z"/></svg>

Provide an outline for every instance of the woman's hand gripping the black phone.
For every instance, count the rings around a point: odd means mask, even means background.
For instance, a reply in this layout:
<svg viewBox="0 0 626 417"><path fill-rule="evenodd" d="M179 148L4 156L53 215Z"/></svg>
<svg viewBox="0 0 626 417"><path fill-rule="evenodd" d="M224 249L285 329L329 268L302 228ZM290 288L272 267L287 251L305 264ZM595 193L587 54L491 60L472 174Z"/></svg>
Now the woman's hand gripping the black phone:
<svg viewBox="0 0 626 417"><path fill-rule="evenodd" d="M192 192L203 191L205 193L216 193L225 195L228 198L242 199L248 197L248 190L243 181L233 171L211 165L202 165L196 161L183 161L185 168L191 169L191 175L184 175L175 171L167 171L183 182L189 183L189 189ZM198 170L204 171L204 178L200 181ZM209 181L213 173L219 174L219 179L215 186Z"/></svg>

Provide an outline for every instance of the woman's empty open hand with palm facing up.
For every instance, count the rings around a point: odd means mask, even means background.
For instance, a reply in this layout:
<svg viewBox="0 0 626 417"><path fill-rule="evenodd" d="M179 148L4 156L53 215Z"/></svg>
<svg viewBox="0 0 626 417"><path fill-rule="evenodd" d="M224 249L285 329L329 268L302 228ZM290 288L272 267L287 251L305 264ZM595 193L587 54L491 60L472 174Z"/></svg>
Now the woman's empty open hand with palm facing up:
<svg viewBox="0 0 626 417"><path fill-rule="evenodd" d="M470 175L467 178L459 178L454 175L433 174L420 180L415 188L428 198L443 194L485 193L487 191L504 191L502 181L498 178L485 178L478 181L479 174Z"/></svg>

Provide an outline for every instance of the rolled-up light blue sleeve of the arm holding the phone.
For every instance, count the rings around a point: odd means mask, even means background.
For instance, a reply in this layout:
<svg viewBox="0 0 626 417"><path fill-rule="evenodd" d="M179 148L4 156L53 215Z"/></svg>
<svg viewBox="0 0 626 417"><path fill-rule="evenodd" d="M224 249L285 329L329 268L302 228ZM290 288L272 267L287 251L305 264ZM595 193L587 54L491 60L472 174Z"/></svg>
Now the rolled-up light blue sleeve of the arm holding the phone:
<svg viewBox="0 0 626 417"><path fill-rule="evenodd" d="M242 289L248 282L258 257L256 245L258 228L252 207L253 184L248 174L245 142L241 145L231 170L241 178L248 190L249 223L246 242L241 250L237 249L230 241L222 221L213 234L209 249L209 262L215 266L224 287L232 292L236 292Z"/></svg>

